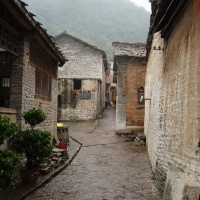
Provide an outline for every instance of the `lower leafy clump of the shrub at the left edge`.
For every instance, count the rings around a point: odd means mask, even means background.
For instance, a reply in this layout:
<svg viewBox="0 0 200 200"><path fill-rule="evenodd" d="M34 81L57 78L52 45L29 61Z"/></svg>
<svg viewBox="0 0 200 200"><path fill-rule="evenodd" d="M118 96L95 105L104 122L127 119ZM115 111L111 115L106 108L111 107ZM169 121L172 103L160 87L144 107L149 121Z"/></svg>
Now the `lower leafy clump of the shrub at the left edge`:
<svg viewBox="0 0 200 200"><path fill-rule="evenodd" d="M18 182L20 160L11 150L0 151L0 191L9 190Z"/></svg>

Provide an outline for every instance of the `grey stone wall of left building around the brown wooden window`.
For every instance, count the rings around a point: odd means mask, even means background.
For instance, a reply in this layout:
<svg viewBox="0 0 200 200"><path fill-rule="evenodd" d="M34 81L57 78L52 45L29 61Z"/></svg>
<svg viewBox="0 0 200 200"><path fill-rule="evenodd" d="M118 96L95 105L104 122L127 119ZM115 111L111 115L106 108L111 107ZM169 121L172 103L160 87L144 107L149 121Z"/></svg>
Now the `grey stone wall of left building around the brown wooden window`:
<svg viewBox="0 0 200 200"><path fill-rule="evenodd" d="M35 67L29 64L29 42L22 41L22 54L12 65L11 107L18 108L17 122L27 127L21 114L30 108L41 108L47 119L39 125L40 129L57 132L57 79L52 78L51 101L35 97ZM13 89L14 88L14 89Z"/></svg>

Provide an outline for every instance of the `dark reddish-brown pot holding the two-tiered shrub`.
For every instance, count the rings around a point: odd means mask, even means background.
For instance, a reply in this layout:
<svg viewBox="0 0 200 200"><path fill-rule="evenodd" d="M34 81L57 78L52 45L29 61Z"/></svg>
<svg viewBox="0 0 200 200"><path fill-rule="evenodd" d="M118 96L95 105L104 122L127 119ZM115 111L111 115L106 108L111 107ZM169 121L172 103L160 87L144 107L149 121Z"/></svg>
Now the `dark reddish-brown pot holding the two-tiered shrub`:
<svg viewBox="0 0 200 200"><path fill-rule="evenodd" d="M39 169L21 169L20 177L24 183L35 183L39 177Z"/></svg>

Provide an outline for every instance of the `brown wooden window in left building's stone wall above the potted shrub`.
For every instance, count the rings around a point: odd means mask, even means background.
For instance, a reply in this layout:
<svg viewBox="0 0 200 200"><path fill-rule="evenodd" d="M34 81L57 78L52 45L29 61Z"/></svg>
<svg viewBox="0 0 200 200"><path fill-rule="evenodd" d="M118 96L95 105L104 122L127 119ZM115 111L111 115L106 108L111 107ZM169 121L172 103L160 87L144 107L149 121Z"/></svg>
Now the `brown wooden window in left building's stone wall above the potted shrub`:
<svg viewBox="0 0 200 200"><path fill-rule="evenodd" d="M40 70L36 70L35 74L35 95L51 100L51 76Z"/></svg>

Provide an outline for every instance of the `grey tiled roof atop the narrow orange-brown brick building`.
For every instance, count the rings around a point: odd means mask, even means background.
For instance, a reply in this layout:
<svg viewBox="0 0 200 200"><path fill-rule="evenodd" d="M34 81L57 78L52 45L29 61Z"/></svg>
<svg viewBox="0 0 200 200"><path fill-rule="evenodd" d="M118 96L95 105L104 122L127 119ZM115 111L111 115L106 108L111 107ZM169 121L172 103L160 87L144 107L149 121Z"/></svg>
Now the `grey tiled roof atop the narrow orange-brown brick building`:
<svg viewBox="0 0 200 200"><path fill-rule="evenodd" d="M144 43L113 42L114 56L145 57Z"/></svg>

